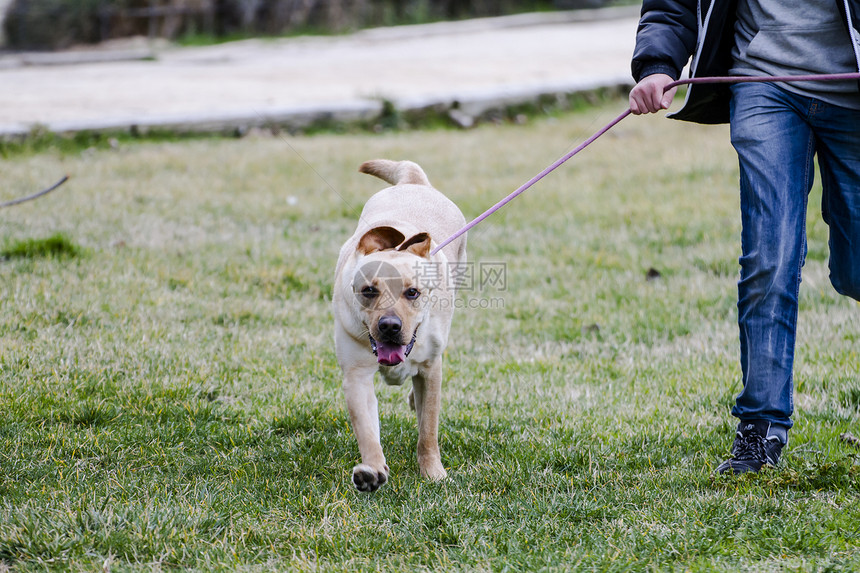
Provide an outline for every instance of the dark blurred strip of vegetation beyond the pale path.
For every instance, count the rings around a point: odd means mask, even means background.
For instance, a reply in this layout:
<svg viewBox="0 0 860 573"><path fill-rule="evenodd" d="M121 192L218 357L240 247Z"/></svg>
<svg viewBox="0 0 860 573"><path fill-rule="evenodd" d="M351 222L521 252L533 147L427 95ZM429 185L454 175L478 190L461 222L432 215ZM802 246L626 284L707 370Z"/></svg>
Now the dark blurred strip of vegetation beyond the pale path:
<svg viewBox="0 0 860 573"><path fill-rule="evenodd" d="M131 36L188 44L211 43L630 3L626 0L0 0L0 49L61 50Z"/></svg>

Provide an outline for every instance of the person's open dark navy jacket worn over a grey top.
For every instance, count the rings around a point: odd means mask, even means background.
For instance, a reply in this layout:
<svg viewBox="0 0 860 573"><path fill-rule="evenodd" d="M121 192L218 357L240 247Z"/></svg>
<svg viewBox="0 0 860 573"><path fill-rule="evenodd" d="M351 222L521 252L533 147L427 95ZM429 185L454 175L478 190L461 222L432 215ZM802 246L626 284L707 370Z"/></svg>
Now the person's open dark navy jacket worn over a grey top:
<svg viewBox="0 0 860 573"><path fill-rule="evenodd" d="M644 0L633 52L633 79L638 82L656 73L678 79L690 56L692 77L728 75L737 1ZM834 2L854 43L860 71L860 0ZM697 123L726 123L730 98L727 84L690 86L684 106L670 117Z"/></svg>

